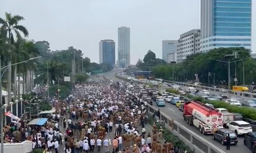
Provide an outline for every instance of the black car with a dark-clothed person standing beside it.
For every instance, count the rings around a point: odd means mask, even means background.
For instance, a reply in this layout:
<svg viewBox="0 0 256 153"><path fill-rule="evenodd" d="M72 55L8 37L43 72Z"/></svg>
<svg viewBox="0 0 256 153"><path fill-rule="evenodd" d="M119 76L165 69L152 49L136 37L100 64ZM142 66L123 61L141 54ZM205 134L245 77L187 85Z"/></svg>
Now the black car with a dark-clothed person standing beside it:
<svg viewBox="0 0 256 153"><path fill-rule="evenodd" d="M222 145L226 144L226 137L229 134L230 144L236 145L238 143L238 137L236 133L228 129L219 129L212 133L212 139L220 141Z"/></svg>

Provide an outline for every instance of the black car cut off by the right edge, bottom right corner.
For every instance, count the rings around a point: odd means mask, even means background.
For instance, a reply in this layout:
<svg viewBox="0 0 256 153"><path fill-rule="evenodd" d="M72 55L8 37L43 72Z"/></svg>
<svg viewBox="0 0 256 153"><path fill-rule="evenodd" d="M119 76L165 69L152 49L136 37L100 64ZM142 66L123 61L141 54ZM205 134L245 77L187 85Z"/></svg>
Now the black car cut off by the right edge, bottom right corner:
<svg viewBox="0 0 256 153"><path fill-rule="evenodd" d="M244 136L244 145L249 147L253 153L256 151L256 132L248 132Z"/></svg>

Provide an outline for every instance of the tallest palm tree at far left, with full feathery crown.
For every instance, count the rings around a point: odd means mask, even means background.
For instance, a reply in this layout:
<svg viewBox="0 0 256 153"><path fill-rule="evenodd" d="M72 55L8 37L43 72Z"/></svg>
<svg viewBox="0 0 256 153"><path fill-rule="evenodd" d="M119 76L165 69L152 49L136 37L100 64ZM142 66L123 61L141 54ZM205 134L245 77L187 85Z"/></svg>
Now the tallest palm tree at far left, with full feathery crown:
<svg viewBox="0 0 256 153"><path fill-rule="evenodd" d="M16 35L17 39L21 39L22 36L20 32L24 34L25 37L29 35L28 30L23 25L18 25L18 22L24 20L24 17L19 15L12 16L11 13L5 13L5 19L0 18L0 24L2 24L1 32L8 38L8 51L5 57L8 58L7 65L12 64L12 52L13 49L11 46L14 44L14 35ZM7 76L7 84L8 84L8 103L11 101L11 66L8 67L8 76Z"/></svg>

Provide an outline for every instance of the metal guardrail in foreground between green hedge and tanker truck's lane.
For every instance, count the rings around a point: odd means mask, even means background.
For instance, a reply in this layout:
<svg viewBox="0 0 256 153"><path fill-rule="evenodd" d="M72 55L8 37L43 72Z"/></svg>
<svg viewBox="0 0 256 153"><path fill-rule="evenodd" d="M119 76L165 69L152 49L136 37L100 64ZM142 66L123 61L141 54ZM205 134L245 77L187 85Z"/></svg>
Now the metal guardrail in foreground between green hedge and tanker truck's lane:
<svg viewBox="0 0 256 153"><path fill-rule="evenodd" d="M154 106L148 105L148 107L150 113L153 113L154 111L157 112L157 108ZM160 113L159 119L164 121L168 129L171 130L174 135L178 136L186 145L188 145L193 152L225 153L225 151L222 149L216 147L214 144L197 135L164 113Z"/></svg>

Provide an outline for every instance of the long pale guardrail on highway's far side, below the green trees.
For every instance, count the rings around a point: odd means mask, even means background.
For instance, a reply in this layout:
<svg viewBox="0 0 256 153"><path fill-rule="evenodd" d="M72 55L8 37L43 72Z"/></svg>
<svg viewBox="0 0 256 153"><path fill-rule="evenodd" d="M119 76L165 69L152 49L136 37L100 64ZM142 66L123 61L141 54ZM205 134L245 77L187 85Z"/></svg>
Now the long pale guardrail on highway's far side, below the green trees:
<svg viewBox="0 0 256 153"><path fill-rule="evenodd" d="M174 83L174 84L181 85L181 86L186 86L186 87L202 88L202 89L205 89L205 90L215 91L215 92L220 92L220 90L221 90L221 88L199 86L199 85L193 85L193 84L182 83L182 82L173 82L173 81L169 81L169 80L163 80L163 82ZM240 96L250 97L250 98L256 97L256 93L240 92L240 91L233 91L233 90L230 90L229 92L230 92L230 94L233 94L233 95L240 95Z"/></svg>

